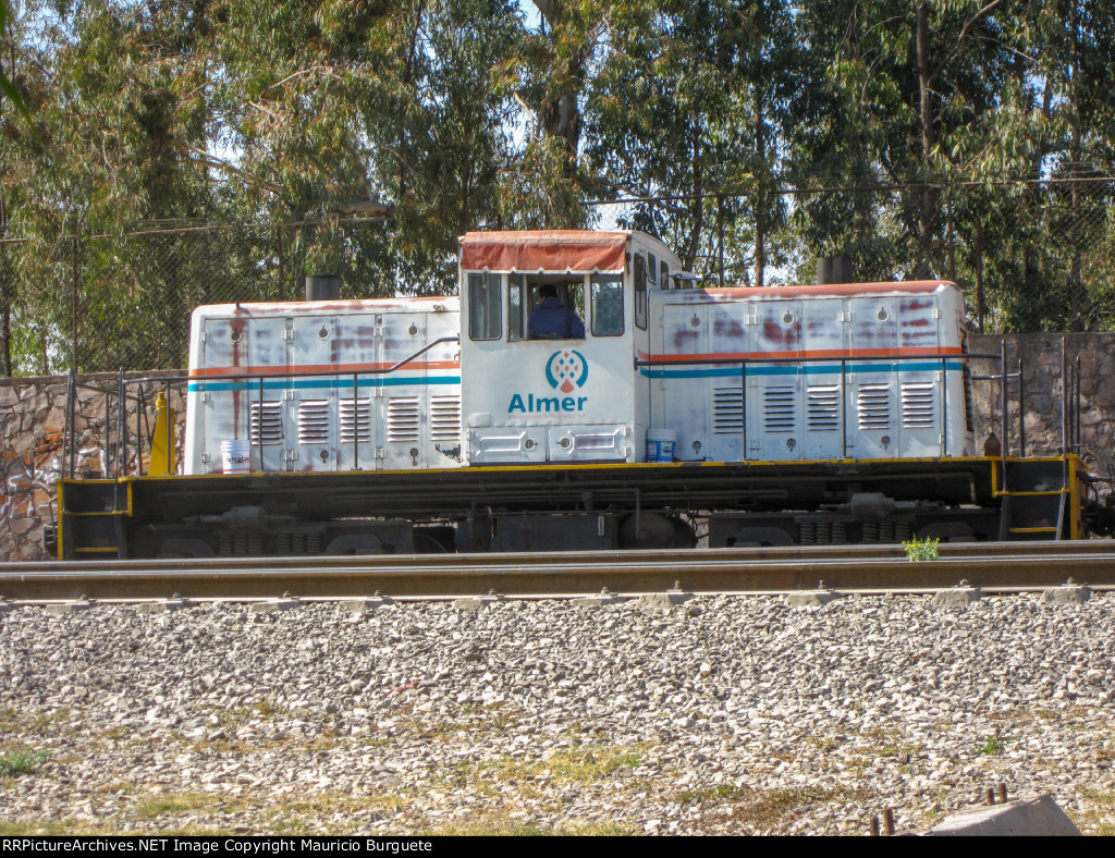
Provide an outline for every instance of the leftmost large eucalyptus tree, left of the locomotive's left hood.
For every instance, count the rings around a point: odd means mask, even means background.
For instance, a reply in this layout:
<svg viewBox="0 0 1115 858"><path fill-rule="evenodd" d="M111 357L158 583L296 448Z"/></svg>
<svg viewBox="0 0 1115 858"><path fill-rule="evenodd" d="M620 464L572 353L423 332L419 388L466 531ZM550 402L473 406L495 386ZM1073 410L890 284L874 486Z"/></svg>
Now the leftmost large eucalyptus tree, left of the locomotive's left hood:
<svg viewBox="0 0 1115 858"><path fill-rule="evenodd" d="M202 254L158 260L122 235L137 222L213 213L205 146L209 3L110 0L38 9L46 82L20 216L36 237L21 275L56 284L39 318L56 362L181 365ZM104 237L91 237L91 236ZM162 264L158 264L162 262ZM142 323L137 323L143 320ZM69 353L68 347L84 347Z"/></svg>

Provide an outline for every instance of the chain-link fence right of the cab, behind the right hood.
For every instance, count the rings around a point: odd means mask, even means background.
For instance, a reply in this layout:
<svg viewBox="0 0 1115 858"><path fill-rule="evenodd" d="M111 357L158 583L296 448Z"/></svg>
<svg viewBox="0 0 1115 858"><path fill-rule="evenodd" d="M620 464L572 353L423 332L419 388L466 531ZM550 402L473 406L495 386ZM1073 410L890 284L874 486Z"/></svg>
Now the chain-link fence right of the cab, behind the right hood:
<svg viewBox="0 0 1115 858"><path fill-rule="evenodd" d="M815 282L818 257L844 257L857 281L954 281L976 333L1115 330L1109 177L644 197L590 224L657 234L715 285Z"/></svg>

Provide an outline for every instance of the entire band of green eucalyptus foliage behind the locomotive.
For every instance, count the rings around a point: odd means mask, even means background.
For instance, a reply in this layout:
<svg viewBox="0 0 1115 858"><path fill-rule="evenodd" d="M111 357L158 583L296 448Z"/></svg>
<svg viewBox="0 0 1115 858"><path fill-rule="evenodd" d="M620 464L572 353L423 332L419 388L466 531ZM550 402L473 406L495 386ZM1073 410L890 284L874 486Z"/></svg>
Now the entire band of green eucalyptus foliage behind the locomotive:
<svg viewBox="0 0 1115 858"><path fill-rule="evenodd" d="M484 228L647 230L731 284L844 255L957 281L981 331L1105 330L1113 65L1109 0L0 0L0 370L180 365L194 304L306 274L452 290Z"/></svg>

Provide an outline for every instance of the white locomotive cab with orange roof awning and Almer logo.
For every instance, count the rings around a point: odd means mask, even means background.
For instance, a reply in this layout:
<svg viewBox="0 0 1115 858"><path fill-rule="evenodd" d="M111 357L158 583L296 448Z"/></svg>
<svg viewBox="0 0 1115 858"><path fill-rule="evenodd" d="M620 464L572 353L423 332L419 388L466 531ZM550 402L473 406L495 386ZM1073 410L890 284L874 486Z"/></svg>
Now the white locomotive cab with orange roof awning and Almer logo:
<svg viewBox="0 0 1115 858"><path fill-rule="evenodd" d="M465 235L467 464L641 461L650 393L634 359L649 349L648 290L679 267L641 233Z"/></svg>

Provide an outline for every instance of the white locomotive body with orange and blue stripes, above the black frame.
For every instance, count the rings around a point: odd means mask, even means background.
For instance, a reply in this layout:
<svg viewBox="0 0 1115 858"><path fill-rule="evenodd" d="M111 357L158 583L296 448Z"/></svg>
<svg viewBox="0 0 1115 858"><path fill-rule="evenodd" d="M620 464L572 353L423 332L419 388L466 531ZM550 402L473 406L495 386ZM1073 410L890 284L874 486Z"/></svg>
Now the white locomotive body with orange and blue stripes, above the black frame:
<svg viewBox="0 0 1115 858"><path fill-rule="evenodd" d="M198 308L186 472L220 472L233 440L253 471L641 462L663 443L676 461L975 454L951 283L691 289L629 232L474 233L459 266L459 303ZM583 338L531 335L546 286Z"/></svg>

